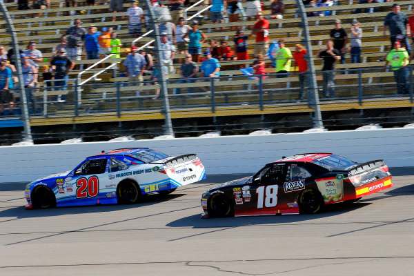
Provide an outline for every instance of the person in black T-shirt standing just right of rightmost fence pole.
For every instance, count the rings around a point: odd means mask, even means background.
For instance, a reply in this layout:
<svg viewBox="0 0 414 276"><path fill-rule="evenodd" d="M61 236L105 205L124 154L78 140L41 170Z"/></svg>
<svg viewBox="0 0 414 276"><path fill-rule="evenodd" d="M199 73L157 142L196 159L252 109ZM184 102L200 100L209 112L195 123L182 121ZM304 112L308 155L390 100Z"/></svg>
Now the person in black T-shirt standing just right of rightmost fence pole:
<svg viewBox="0 0 414 276"><path fill-rule="evenodd" d="M317 57L324 59L324 67L322 67L323 77L323 95L325 98L334 97L335 94L335 62L341 59L340 53L333 48L333 41L326 42L326 49L319 50Z"/></svg>

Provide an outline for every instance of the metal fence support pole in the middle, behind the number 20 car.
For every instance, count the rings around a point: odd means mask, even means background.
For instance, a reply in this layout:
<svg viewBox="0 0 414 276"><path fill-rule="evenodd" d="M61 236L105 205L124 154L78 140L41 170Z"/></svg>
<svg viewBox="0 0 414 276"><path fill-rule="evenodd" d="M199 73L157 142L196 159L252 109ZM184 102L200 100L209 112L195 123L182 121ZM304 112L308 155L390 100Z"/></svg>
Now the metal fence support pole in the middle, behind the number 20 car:
<svg viewBox="0 0 414 276"><path fill-rule="evenodd" d="M167 82L166 77L164 76L161 64L161 36L159 34L158 28L158 20L155 16L155 12L151 7L150 0L146 0L146 6L150 13L150 24L152 24L152 30L155 31L155 52L157 53L157 69L159 72L159 85L161 86L161 95L164 102L164 133L165 135L174 135L172 131L172 121L171 121L171 114L170 114L170 101L168 99L168 90L167 90Z"/></svg>

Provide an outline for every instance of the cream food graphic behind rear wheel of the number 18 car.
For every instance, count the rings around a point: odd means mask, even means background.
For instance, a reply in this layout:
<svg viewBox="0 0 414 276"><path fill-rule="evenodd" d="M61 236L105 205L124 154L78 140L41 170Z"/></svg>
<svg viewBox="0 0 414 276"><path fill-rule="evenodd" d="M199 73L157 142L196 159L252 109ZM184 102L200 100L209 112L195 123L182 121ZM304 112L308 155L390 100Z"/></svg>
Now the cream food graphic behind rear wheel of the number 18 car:
<svg viewBox="0 0 414 276"><path fill-rule="evenodd" d="M317 188L326 203L344 200L344 177L316 179Z"/></svg>

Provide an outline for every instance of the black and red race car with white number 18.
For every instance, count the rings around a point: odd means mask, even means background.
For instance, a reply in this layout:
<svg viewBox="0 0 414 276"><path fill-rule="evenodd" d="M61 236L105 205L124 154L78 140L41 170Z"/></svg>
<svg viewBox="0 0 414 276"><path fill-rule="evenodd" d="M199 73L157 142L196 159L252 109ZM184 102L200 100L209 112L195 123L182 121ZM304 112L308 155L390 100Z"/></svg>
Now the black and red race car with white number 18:
<svg viewBox="0 0 414 276"><path fill-rule="evenodd" d="M201 196L201 217L318 213L326 204L356 201L392 186L383 160L357 163L332 153L306 153L210 188Z"/></svg>

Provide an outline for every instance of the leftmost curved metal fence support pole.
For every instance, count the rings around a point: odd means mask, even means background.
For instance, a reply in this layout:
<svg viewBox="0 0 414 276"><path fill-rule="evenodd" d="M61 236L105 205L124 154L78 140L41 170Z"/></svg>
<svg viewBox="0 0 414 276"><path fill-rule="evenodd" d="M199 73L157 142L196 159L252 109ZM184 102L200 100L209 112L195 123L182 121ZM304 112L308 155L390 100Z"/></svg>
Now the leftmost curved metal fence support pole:
<svg viewBox="0 0 414 276"><path fill-rule="evenodd" d="M17 70L17 77L19 79L19 90L20 90L20 101L21 101L21 119L23 121L23 140L32 141L32 130L30 128L30 118L28 112L28 101L26 97L26 92L23 86L23 75L21 71L21 61L20 61L20 50L19 50L19 41L17 41L16 30L14 30L14 25L10 14L6 8L6 5L3 1L0 1L0 9L3 12L3 17L6 19L8 25L8 32L12 39L12 48L14 52L14 65Z"/></svg>

